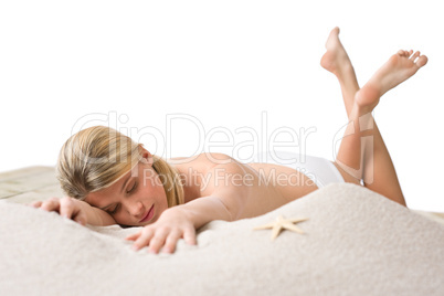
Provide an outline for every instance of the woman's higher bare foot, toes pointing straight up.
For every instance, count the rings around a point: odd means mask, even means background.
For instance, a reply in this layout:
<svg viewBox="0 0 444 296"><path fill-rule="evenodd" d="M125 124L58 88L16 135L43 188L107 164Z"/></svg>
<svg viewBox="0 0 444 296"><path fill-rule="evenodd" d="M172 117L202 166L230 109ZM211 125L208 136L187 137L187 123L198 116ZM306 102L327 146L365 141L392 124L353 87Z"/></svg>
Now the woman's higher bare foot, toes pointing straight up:
<svg viewBox="0 0 444 296"><path fill-rule="evenodd" d="M334 73L336 76L342 76L343 72L352 68L350 59L342 43L339 40L339 28L331 30L326 42L327 52L320 59L320 65Z"/></svg>

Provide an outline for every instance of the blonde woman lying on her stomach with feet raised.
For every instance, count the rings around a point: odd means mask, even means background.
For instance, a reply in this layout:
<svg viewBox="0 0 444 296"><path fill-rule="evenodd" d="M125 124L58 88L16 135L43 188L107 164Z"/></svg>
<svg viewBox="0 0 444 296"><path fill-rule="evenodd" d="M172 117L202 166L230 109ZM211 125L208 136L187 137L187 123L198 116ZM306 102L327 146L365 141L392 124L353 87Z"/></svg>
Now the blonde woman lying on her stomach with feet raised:
<svg viewBox="0 0 444 296"><path fill-rule="evenodd" d="M336 161L307 156L296 166L244 165L225 155L201 154L167 162L125 135L97 126L73 135L61 149L57 178L68 197L32 205L81 224L144 226L127 240L135 250L148 246L151 253L175 252L179 239L195 244L195 230L210 221L257 216L331 182L361 184L405 205L371 112L427 57L399 51L359 88L338 34L338 28L330 32L320 61L339 81L349 119ZM297 186L289 178L283 181L282 176L295 175Z"/></svg>

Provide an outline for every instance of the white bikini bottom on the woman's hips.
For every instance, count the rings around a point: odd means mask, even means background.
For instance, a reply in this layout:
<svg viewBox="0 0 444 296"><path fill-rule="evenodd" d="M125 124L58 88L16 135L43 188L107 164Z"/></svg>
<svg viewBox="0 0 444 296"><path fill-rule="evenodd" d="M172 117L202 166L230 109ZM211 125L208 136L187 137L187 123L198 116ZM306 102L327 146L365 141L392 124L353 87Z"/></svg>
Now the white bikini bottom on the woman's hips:
<svg viewBox="0 0 444 296"><path fill-rule="evenodd" d="M296 169L313 180L318 188L323 188L329 183L345 182L335 165L320 157L287 151L267 151L258 154L253 162L275 163Z"/></svg>

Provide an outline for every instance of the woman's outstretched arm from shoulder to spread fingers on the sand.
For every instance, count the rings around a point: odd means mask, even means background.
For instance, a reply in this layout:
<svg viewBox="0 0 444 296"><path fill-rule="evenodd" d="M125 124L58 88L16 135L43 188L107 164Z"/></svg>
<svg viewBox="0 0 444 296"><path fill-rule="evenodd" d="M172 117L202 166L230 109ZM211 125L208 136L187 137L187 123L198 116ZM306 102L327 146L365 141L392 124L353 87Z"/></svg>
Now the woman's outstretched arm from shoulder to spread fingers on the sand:
<svg viewBox="0 0 444 296"><path fill-rule="evenodd" d="M214 165L201 183L204 197L166 210L152 224L127 240L135 241L134 249L149 245L151 253L172 253L181 237L195 244L195 230L214 220L234 221L243 216L246 202L256 183L254 175L242 163L231 160Z"/></svg>

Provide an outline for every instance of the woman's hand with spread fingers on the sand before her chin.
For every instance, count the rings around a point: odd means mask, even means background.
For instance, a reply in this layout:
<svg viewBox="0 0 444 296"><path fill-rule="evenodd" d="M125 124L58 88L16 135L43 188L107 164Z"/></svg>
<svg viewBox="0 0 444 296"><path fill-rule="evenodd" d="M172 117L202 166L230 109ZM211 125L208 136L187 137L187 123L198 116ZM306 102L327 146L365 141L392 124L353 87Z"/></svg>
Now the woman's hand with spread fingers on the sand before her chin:
<svg viewBox="0 0 444 296"><path fill-rule="evenodd" d="M187 211L180 207L166 210L155 223L126 237L126 240L134 241L134 250L149 246L149 252L155 254L162 246L163 253L173 253L179 239L183 239L188 244L195 244L194 225L187 215Z"/></svg>

